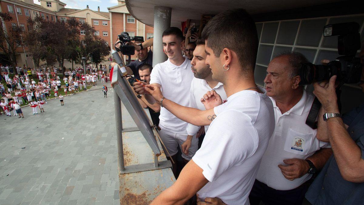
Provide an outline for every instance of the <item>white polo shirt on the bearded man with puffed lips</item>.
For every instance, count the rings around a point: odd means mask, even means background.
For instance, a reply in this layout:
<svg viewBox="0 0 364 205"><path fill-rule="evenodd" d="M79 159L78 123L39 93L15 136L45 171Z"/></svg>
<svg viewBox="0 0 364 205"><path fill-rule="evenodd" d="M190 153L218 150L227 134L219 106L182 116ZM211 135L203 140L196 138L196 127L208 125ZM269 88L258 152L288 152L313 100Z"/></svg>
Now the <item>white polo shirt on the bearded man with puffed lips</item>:
<svg viewBox="0 0 364 205"><path fill-rule="evenodd" d="M201 98L207 91L215 90L217 94L221 96L222 101L226 101L226 93L224 90L224 86L221 82L219 82L214 88L211 88L210 85L207 83L206 80L193 78L191 82L191 89L190 89L190 108L197 108L199 110L205 110L205 106L201 102ZM188 124L187 125L187 134L188 135L195 135L198 130L200 129L199 126ZM208 125L205 125L205 133L209 129Z"/></svg>

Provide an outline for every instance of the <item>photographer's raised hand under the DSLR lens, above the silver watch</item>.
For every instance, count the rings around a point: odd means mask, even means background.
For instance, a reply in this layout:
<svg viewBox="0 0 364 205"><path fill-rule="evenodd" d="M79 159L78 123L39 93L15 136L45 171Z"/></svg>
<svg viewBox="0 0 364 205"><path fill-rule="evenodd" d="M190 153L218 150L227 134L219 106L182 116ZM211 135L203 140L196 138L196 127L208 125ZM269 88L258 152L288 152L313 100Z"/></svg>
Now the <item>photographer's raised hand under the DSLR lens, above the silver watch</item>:
<svg viewBox="0 0 364 205"><path fill-rule="evenodd" d="M339 113L335 92L335 81L336 76L332 76L328 84L325 82L321 82L320 84L318 82L313 83L313 94L321 102L327 113Z"/></svg>

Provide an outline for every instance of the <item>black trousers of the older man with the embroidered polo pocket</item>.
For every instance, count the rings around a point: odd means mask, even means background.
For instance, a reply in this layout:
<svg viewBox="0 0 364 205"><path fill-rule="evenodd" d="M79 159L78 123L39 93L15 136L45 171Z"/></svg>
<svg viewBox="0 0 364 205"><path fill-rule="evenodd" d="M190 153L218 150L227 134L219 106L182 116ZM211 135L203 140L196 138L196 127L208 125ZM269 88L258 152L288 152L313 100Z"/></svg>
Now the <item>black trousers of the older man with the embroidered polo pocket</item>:
<svg viewBox="0 0 364 205"><path fill-rule="evenodd" d="M288 179L287 179L288 180ZM262 201L265 205L302 205L305 193L313 179L309 179L301 186L291 190L276 190L265 183L255 180L252 191L249 194L251 205L259 205Z"/></svg>

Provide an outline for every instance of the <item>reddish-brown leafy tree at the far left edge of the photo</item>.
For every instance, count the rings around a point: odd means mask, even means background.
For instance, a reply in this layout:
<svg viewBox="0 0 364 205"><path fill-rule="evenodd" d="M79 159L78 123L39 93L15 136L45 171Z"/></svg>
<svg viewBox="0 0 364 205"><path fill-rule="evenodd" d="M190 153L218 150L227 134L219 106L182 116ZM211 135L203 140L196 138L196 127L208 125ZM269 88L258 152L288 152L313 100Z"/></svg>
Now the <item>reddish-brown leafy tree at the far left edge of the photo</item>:
<svg viewBox="0 0 364 205"><path fill-rule="evenodd" d="M9 13L0 12L0 20L0 52L4 53L7 58L3 58L1 55L0 57L15 67L16 49L23 45L21 40L23 28L18 25L10 24L13 18L9 15ZM5 27L5 24L11 26Z"/></svg>

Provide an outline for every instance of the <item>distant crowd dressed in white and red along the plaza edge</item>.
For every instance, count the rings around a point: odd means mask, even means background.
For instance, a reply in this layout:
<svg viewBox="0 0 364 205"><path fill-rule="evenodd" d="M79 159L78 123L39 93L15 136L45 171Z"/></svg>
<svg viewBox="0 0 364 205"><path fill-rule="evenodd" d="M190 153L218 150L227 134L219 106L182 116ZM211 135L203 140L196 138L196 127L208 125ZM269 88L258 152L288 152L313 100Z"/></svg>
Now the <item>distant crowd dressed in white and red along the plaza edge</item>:
<svg viewBox="0 0 364 205"><path fill-rule="evenodd" d="M105 66L106 67L106 66ZM73 70L66 70L64 72L63 78L63 90L64 94L76 94L80 90L86 90L88 85L96 85L97 81L107 82L109 75L106 74L106 69L97 71L90 69L92 72L88 74L81 74L83 69L76 67ZM44 104L47 103L47 99L50 99L51 92L53 92L54 97L59 98L61 105L63 103L63 96L60 94L60 89L62 89L60 77L53 72L49 72L48 69L37 69L35 75L30 75L27 72L21 74L15 74L13 77L9 77L8 72L0 73L0 115L5 114L6 116L11 116L11 111L13 111L13 116L23 117L23 112L21 111L21 106L23 104L28 104L33 109L33 115L38 114L38 109L40 112L44 111ZM36 83L34 78L37 77L39 81ZM1 83L1 79L5 79L6 85ZM107 90L107 88L106 88Z"/></svg>

